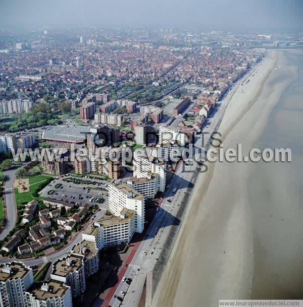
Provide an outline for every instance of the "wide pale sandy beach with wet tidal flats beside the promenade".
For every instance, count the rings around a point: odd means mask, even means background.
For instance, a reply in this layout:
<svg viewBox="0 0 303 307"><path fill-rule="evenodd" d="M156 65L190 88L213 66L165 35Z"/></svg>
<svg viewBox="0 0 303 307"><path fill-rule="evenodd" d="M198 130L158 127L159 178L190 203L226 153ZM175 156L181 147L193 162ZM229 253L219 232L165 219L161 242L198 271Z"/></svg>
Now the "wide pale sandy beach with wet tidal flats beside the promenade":
<svg viewBox="0 0 303 307"><path fill-rule="evenodd" d="M288 96L302 93L293 84L302 55L270 51L232 96L219 128L224 148L242 143L243 155L254 147L294 148L293 162L209 163L195 182L153 306L302 298L303 103Z"/></svg>

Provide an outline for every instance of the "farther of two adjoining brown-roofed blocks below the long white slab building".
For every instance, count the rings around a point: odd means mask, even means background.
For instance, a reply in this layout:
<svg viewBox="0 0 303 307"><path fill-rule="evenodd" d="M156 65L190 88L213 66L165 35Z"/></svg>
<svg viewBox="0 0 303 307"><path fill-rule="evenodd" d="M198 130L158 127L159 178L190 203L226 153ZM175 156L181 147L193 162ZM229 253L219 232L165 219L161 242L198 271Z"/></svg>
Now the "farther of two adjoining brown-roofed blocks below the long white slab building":
<svg viewBox="0 0 303 307"><path fill-rule="evenodd" d="M84 256L85 276L89 277L99 270L99 250L93 241L83 240L73 247L72 254Z"/></svg>

